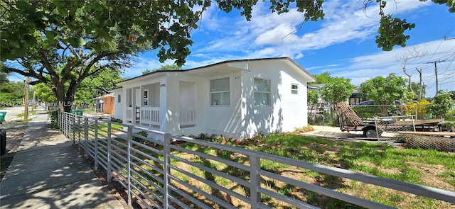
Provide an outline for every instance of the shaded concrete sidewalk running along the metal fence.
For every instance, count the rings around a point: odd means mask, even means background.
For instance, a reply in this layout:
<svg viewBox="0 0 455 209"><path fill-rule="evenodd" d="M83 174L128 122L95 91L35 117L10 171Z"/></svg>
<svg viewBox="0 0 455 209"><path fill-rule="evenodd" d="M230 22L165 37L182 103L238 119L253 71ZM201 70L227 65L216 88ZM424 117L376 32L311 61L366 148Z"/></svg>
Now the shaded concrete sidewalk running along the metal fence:
<svg viewBox="0 0 455 209"><path fill-rule="evenodd" d="M0 182L0 208L123 208L38 110Z"/></svg>

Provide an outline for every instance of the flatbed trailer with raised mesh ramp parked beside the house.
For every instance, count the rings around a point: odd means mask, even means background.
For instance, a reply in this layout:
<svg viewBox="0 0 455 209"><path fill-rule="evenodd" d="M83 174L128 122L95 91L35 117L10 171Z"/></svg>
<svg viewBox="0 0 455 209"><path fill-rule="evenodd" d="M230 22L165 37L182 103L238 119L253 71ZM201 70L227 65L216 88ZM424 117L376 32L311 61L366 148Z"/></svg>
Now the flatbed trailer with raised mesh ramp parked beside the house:
<svg viewBox="0 0 455 209"><path fill-rule="evenodd" d="M437 131L444 119L414 120L400 117L361 119L346 102L337 103L341 131L362 131L367 138L379 138L383 132ZM409 117L409 116L406 116Z"/></svg>

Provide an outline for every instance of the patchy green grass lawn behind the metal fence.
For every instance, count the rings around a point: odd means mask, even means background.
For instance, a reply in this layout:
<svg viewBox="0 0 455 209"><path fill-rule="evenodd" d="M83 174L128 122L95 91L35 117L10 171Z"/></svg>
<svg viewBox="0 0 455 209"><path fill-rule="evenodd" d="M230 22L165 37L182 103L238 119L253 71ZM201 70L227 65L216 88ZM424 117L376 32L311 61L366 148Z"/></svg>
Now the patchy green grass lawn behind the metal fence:
<svg viewBox="0 0 455 209"><path fill-rule="evenodd" d="M220 141L218 141L220 140ZM435 150L423 149L405 149L402 147L391 147L389 145L382 145L373 142L341 142L328 140L317 137L304 137L290 134L277 134L253 140L247 143L238 143L234 140L222 140L220 137L215 140L223 144L232 146L243 147L245 149L252 149L259 152L266 152L276 154L283 157L292 159L299 159L306 162L316 164L324 164L327 166L335 166L350 171L357 171L365 174L372 174L381 176L388 179L395 179L397 181L405 181L408 183L417 183L425 186L432 186L441 188L448 191L455 191L455 153L453 152L438 152ZM222 157L230 161L238 162L240 164L250 164L247 157L238 153L228 152L222 149L213 149L213 147L204 147L195 145L193 143L185 142L178 145L185 149L190 149L195 152L209 154L212 156ZM162 149L161 147L154 147L155 149ZM149 153L149 149L137 147L143 153ZM236 176L245 181L249 180L249 172L241 169L236 169L227 164L205 159L188 152L171 150L172 154L180 159L185 159L191 162L196 162L205 167L215 169L216 171ZM134 156L139 157L141 154L136 153ZM156 159L163 160L162 156L151 154ZM154 172L155 168L162 167L156 164L153 159L144 159L147 164L140 164L135 170L141 176L153 175L160 176ZM137 162L139 163L139 162ZM198 169L184 162L171 159L171 164L178 169L189 172L198 176L201 179L208 179L229 188L232 191L242 194L242 196L250 196L250 191L247 188L240 186L238 182L225 179L216 174ZM151 167L151 166L155 167ZM291 176L292 179L298 179L307 183L330 188L336 191L347 193L352 196L358 196L385 205L390 205L394 208L455 208L454 204L446 203L441 200L434 200L431 198L422 198L409 193L394 191L388 188L380 188L378 186L352 181L350 179L338 178L336 176L329 176L320 174L316 171L305 169L298 169L278 162L269 162L267 160L261 161L261 167L264 170L273 173L281 174L282 176ZM147 171L147 172L145 172ZM204 191L217 198L228 201L230 204L235 205L237 208L250 208L250 205L243 203L241 200L235 200L232 196L227 196L226 193L218 189L208 186L206 183L188 176L184 172L171 169L171 174L176 176L181 181L188 183L191 186ZM136 175L134 175L136 176ZM154 179L142 179L141 183L144 185L153 184ZM199 193L195 193L191 188L182 186L180 183L173 181L175 185L186 191L194 198L205 202L210 208L223 208L211 202ZM277 191L285 196L300 199L311 205L316 205L319 208L360 208L350 203L344 203L341 200L336 200L326 196L321 196L317 193L306 191L303 188L297 188L275 179L262 179L262 187ZM152 187L151 191L154 189ZM282 203L274 198L262 195L262 202L271 208L294 208L287 203ZM187 202L185 198L183 202Z"/></svg>

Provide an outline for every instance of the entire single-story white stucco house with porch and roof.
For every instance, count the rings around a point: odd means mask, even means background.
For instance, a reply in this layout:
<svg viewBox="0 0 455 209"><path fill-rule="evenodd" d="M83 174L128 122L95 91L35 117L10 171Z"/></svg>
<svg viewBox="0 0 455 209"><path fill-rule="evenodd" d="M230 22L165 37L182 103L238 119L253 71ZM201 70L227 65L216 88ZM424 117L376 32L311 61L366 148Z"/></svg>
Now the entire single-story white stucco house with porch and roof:
<svg viewBox="0 0 455 209"><path fill-rule="evenodd" d="M114 117L176 135L294 131L308 125L307 83L315 80L289 57L151 72L112 90Z"/></svg>

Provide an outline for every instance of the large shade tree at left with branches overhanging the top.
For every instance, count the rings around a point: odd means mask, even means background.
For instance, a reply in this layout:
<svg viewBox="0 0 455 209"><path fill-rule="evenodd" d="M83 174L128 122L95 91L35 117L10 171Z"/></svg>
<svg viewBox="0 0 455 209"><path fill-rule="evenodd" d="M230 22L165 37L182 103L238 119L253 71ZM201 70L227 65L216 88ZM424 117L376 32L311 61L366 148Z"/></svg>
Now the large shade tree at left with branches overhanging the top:
<svg viewBox="0 0 455 209"><path fill-rule="evenodd" d="M452 1L433 1L455 10ZM240 10L250 21L252 6L258 1L215 2L225 12ZM382 16L378 47L391 50L393 45L405 45L409 37L402 33L413 25L385 15L385 1L377 2ZM169 59L178 66L184 64L191 53L191 30L198 28L203 11L211 4L211 0L4 0L0 2L0 60L21 66L9 64L6 72L36 79L32 84L51 84L58 101L73 103L83 79L107 68L128 67L139 52L156 50L161 62ZM269 9L286 13L295 6L303 21L318 21L324 16L322 4L323 0L271 1ZM70 111L70 106L61 108Z"/></svg>

